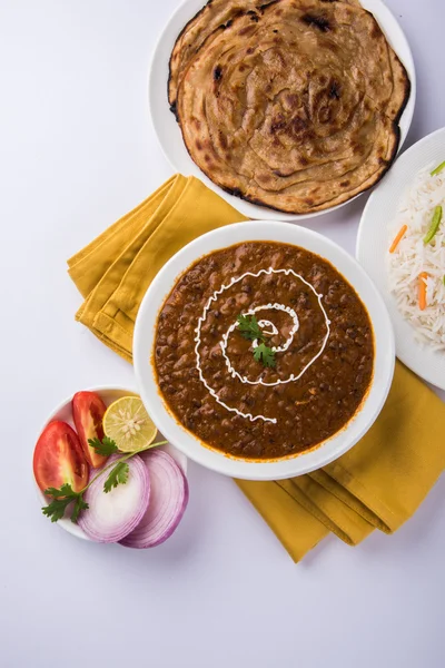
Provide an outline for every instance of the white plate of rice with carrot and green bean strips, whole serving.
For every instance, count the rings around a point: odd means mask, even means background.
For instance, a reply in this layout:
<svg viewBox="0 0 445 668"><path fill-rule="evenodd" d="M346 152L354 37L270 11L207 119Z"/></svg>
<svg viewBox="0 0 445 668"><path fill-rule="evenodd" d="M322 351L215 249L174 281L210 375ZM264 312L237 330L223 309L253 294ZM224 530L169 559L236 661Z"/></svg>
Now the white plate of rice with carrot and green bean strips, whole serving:
<svg viewBox="0 0 445 668"><path fill-rule="evenodd" d="M369 197L356 256L386 302L397 356L445 390L445 128L405 151Z"/></svg>

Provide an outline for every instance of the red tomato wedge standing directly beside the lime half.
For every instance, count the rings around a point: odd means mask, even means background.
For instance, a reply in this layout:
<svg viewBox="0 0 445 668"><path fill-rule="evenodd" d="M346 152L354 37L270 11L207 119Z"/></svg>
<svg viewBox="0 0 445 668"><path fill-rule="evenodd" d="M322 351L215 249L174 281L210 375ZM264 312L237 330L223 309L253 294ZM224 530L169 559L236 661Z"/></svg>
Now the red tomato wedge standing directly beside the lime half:
<svg viewBox="0 0 445 668"><path fill-rule="evenodd" d="M97 454L88 444L89 439L103 439L102 420L107 406L96 392L78 392L72 397L72 418L83 449L85 456L95 469L101 466L108 459Z"/></svg>

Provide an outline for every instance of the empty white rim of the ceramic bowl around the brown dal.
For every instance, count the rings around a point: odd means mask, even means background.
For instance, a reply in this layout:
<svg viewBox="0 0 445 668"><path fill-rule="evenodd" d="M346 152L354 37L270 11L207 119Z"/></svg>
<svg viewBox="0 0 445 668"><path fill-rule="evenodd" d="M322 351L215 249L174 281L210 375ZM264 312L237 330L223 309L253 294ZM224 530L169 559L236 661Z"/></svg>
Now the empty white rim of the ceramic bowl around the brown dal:
<svg viewBox="0 0 445 668"><path fill-rule="evenodd" d="M375 334L375 371L367 399L346 429L317 449L291 459L248 461L206 448L167 410L158 390L151 354L157 314L180 275L199 257L248 240L274 240L301 246L329 261L354 286L369 313ZM136 321L134 361L142 401L158 429L178 450L202 466L248 480L278 480L300 475L344 454L370 428L389 391L394 373L394 335L386 306L360 265L328 238L304 227L277 222L237 223L200 236L177 253L159 272L144 297Z"/></svg>

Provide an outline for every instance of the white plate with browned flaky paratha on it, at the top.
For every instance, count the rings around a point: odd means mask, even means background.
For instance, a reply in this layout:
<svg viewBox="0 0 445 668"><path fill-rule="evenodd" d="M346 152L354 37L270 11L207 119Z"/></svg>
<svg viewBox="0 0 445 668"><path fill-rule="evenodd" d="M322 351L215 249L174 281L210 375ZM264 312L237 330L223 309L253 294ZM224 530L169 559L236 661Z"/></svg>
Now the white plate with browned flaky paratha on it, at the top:
<svg viewBox="0 0 445 668"><path fill-rule="evenodd" d="M155 130L174 168L250 218L309 218L390 168L416 78L382 0L186 0L156 48Z"/></svg>

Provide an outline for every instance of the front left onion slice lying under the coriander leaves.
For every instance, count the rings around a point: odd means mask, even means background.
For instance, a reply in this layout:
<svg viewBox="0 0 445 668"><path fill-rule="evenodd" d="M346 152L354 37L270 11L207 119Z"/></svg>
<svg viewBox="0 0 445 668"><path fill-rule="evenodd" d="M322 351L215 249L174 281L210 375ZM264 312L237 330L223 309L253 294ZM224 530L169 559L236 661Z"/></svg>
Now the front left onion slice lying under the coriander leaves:
<svg viewBox="0 0 445 668"><path fill-rule="evenodd" d="M118 459L119 455L110 456L107 465ZM119 542L144 518L150 498L148 469L137 454L127 463L129 474L125 484L119 484L106 494L103 483L111 471L107 469L85 493L89 508L80 514L79 527L91 540ZM96 474L97 470L91 471L90 480Z"/></svg>

